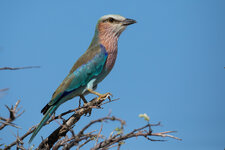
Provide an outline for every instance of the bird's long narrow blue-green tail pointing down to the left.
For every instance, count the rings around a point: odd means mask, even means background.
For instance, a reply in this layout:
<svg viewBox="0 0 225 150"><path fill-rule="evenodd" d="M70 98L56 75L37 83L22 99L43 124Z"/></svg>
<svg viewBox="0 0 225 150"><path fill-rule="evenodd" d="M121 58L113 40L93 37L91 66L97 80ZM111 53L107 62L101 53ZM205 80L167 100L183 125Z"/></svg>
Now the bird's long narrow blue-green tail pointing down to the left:
<svg viewBox="0 0 225 150"><path fill-rule="evenodd" d="M41 122L38 124L38 126L36 127L36 129L34 130L29 143L32 142L32 140L34 139L34 137L37 135L37 133L41 130L41 128L44 126L44 124L48 121L48 119L52 116L52 114L56 111L56 109L58 108L58 105L55 106L50 106L48 111L45 113L44 117L42 118Z"/></svg>

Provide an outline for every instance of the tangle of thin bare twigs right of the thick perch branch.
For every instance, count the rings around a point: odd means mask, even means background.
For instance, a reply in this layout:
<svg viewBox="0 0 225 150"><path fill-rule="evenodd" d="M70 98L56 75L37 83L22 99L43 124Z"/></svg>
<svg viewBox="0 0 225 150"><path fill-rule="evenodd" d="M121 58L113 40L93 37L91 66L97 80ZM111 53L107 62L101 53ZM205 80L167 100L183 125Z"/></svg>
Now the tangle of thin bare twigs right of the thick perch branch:
<svg viewBox="0 0 225 150"><path fill-rule="evenodd" d="M101 124L101 128L100 128L100 131L95 134L93 132L89 132L87 134L85 134L84 132L89 129L92 125L96 124L96 123L104 123L106 122L107 120L110 120L110 121L119 121L120 124L121 124L121 127L120 130L116 130L117 133L115 133L115 135L110 135L109 138L104 138L103 135L101 135L101 131L103 129L103 124ZM151 139L150 137L152 136L158 136L158 137L162 137L162 138L165 138L165 137L168 137L168 138L174 138L176 140L181 140L180 138L177 138L173 135L170 135L168 133L174 133L174 131L165 131L165 132L159 132L159 133L152 133L152 130L151 130L151 127L153 126L160 126L160 123L157 123L157 124L147 124L143 127L140 127L140 128L137 128L137 129L134 129L132 130L131 132L127 133L127 134L124 134L123 133L123 127L125 125L125 121L119 119L119 118L116 118L116 117L110 117L110 116L107 116L107 117L103 117L103 118L100 118L100 119L97 119L97 120L93 120L91 121L90 123L88 123L87 125L85 125L79 132L77 135L73 135L71 138L65 138L59 142L57 142L55 144L55 146L53 147L53 149L58 149L60 146L64 146L63 147L63 150L67 150L67 149L70 149L72 148L73 146L77 146L77 149L79 150L81 147L83 147L84 145L86 145L87 143L95 140L95 145L94 147L92 148L92 150L97 150L97 149L109 149L109 148L112 148L112 147L117 147L117 149L120 149L120 147L125 143L124 141L130 139L130 138L137 138L137 137L144 137L145 139L147 140L150 140L150 141L165 141L165 140L161 140L161 139ZM101 138L101 141L99 141L99 138ZM79 143L81 141L85 140L84 143L82 143L81 145L79 145ZM39 148L38 148L39 149ZM44 149L44 148L43 148ZM47 148L49 149L49 147Z"/></svg>

